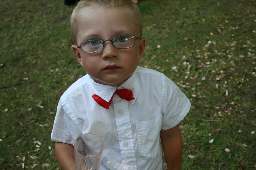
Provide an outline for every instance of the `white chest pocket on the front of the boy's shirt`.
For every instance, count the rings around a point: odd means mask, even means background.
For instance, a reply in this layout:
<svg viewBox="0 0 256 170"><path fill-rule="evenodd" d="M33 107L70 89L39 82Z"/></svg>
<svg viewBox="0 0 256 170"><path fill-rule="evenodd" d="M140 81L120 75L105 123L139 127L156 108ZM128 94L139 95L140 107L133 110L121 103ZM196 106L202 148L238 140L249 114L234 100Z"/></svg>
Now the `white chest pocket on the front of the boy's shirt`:
<svg viewBox="0 0 256 170"><path fill-rule="evenodd" d="M152 120L136 123L140 153L150 153L157 142L162 126L162 115ZM157 148L158 149L158 148Z"/></svg>

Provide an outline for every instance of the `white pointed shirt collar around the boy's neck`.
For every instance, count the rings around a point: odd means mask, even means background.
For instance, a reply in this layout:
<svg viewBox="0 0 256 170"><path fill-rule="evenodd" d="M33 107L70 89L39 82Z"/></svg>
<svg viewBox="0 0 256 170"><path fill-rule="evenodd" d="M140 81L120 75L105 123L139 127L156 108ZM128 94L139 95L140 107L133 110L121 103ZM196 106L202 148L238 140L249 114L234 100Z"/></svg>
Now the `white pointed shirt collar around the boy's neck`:
<svg viewBox="0 0 256 170"><path fill-rule="evenodd" d="M109 86L109 85L99 84L99 83L96 83L89 75L88 75L88 77L90 80L88 84L89 84L89 87L91 88L92 92L94 94L98 95L99 97L101 97L106 102L110 101L110 99L112 98L116 89L131 90L133 97L134 97L134 100L130 101L132 104L134 104L134 102L138 96L139 83L138 83L136 71L120 86Z"/></svg>

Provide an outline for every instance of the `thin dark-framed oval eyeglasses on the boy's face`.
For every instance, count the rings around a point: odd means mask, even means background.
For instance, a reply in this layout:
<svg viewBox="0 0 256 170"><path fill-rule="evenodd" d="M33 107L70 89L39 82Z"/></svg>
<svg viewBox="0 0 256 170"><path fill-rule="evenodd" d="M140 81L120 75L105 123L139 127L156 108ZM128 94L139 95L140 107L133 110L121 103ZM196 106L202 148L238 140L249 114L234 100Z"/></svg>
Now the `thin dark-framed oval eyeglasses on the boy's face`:
<svg viewBox="0 0 256 170"><path fill-rule="evenodd" d="M82 42L77 48L81 47L85 53L94 53L102 50L106 41L111 41L117 49L128 49L134 46L137 39L140 38L136 38L134 35L119 35L105 41L102 39L89 39Z"/></svg>

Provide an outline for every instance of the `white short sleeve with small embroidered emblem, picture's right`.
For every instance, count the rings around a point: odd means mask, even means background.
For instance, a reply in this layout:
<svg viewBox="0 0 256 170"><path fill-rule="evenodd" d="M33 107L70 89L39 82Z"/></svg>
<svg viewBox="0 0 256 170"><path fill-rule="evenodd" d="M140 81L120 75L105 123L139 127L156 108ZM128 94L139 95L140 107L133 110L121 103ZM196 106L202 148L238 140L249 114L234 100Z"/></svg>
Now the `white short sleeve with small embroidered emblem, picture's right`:
<svg viewBox="0 0 256 170"><path fill-rule="evenodd" d="M176 126L188 113L191 103L179 87L164 76L162 84L162 127L166 130Z"/></svg>

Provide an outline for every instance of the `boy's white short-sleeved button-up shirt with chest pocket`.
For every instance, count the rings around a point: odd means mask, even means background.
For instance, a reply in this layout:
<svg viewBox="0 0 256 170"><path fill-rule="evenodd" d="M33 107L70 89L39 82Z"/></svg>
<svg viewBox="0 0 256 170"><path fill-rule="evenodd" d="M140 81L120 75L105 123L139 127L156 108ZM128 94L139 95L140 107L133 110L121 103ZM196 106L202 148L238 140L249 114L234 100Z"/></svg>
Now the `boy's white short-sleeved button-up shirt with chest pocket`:
<svg viewBox="0 0 256 170"><path fill-rule="evenodd" d="M131 90L135 99L115 93L105 109L92 98L96 94L109 102L116 89ZM137 67L118 87L85 75L61 96L52 140L74 146L78 135L94 133L104 141L100 170L162 170L159 132L176 126L190 106L175 83L155 70Z"/></svg>

